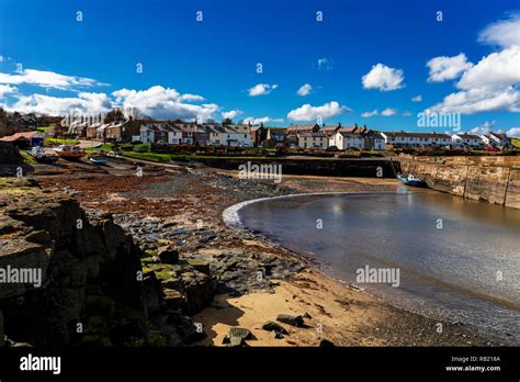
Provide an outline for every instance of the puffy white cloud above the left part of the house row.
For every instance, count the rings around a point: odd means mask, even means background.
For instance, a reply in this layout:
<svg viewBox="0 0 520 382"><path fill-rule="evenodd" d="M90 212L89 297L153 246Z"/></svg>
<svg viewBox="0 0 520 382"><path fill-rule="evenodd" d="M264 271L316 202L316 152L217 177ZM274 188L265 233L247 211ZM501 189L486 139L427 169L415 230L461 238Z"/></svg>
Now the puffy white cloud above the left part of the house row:
<svg viewBox="0 0 520 382"><path fill-rule="evenodd" d="M147 90L121 89L112 93L117 103L126 108L138 108L144 114L159 120L207 121L214 117L219 106L215 103L191 104L185 100L203 100L200 96L180 94L176 89L154 86ZM186 97L188 96L188 97Z"/></svg>

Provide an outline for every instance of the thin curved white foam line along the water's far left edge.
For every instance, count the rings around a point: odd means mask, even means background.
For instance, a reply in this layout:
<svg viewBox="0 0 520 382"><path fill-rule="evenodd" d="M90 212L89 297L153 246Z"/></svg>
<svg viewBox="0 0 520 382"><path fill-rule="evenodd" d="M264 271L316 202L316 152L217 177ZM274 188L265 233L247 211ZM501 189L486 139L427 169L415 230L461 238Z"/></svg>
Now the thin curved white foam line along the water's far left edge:
<svg viewBox="0 0 520 382"><path fill-rule="evenodd" d="M252 203L258 203L258 202L263 202L268 200L275 200L275 199L284 199L284 198L297 198L297 196L318 196L318 195L350 195L350 194L410 194L412 193L411 191L406 191L406 192L397 192L397 191L328 191L328 192L309 192L309 193L292 193L289 195L281 195L281 196L269 196L269 198L259 198L259 199L252 199L252 200L247 200L237 204L234 204L222 213L222 218L224 221L224 224L226 224L230 228L246 228L244 223L240 221L240 217L238 216L238 211L240 211L242 207L246 205L252 204Z"/></svg>

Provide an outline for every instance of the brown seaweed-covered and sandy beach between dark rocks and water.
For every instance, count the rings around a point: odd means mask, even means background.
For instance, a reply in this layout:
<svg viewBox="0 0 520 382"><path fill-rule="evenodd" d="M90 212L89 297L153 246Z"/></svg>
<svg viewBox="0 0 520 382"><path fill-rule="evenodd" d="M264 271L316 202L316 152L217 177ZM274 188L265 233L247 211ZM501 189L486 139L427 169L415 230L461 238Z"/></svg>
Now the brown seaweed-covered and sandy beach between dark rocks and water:
<svg viewBox="0 0 520 382"><path fill-rule="evenodd" d="M316 262L305 255L281 248L268 238L256 237L241 228L229 228L222 218L225 211L237 204L245 205L253 200L272 196L395 192L400 188L400 183L395 180L287 176L278 187L262 180L240 182L236 173L206 167L182 169L183 166L180 166L179 171L172 171L171 168L166 171L160 166L146 166L147 176L136 181L135 176L128 175L133 171L132 166L127 166L126 172L120 168L106 168L106 173L95 175L81 166L68 167L68 177L64 177L65 173L36 173L36 178L44 189L57 187L72 192L88 210L110 212L114 216L122 214L124 218L143 216L134 220L144 231L148 224L144 217L155 222L150 224L151 227L167 224L182 227L195 241L180 247L181 255L210 261L210 267L217 270L217 278L223 284L242 291L235 295L225 290L217 291L214 302L192 316L193 322L203 324L207 335L195 345L221 346L231 326L247 327L253 333L257 339L248 340L249 346L318 346L321 339L338 346L509 345L489 334L477 333L467 325L442 323L407 312L366 292L341 284L324 274L317 269ZM114 183L112 186L105 181L108 173ZM124 222L123 217L121 220ZM200 222L204 229L216 235L202 246L200 241L196 243L199 232L195 226ZM128 228L124 224L123 227ZM147 238L134 237L136 239L138 244L148 245ZM244 256L246 263L240 260ZM273 276L261 285L255 283L257 269L247 266L252 260L260 265L275 263ZM241 268L221 268L223 261L227 265L238 261ZM290 262L285 265L284 261ZM303 268L299 269L295 263ZM233 279L235 277L238 279ZM310 317L305 321L309 327L282 325L290 333L282 339L272 338L271 333L261 329L263 321L275 321L278 314L306 313ZM441 333L438 333L439 323L442 323ZM318 328L321 332L317 332Z"/></svg>

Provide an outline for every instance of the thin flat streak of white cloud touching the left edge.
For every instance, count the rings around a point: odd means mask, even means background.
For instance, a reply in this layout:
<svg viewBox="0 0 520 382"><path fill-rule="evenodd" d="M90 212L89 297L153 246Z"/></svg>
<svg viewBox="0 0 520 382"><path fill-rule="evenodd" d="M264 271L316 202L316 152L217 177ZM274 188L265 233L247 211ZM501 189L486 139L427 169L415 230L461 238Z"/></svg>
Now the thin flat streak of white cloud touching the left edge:
<svg viewBox="0 0 520 382"><path fill-rule="evenodd" d="M35 85L43 88L55 88L60 90L71 90L76 87L93 87L104 83L91 78L65 76L54 71L25 69L21 74L10 75L0 72L0 83L5 85Z"/></svg>

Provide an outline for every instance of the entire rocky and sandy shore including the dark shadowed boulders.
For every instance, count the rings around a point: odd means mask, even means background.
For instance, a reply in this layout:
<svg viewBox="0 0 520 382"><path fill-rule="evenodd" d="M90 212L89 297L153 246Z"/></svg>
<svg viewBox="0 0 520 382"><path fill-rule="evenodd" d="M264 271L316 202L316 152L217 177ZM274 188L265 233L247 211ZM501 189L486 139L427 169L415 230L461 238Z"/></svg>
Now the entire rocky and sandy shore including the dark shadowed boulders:
<svg viewBox="0 0 520 382"><path fill-rule="evenodd" d="M391 180L274 184L179 166L137 177L127 162L42 166L33 177L0 182L0 268L45 274L39 288L0 288L10 346L501 344L342 285L221 218L244 200L395 189Z"/></svg>

